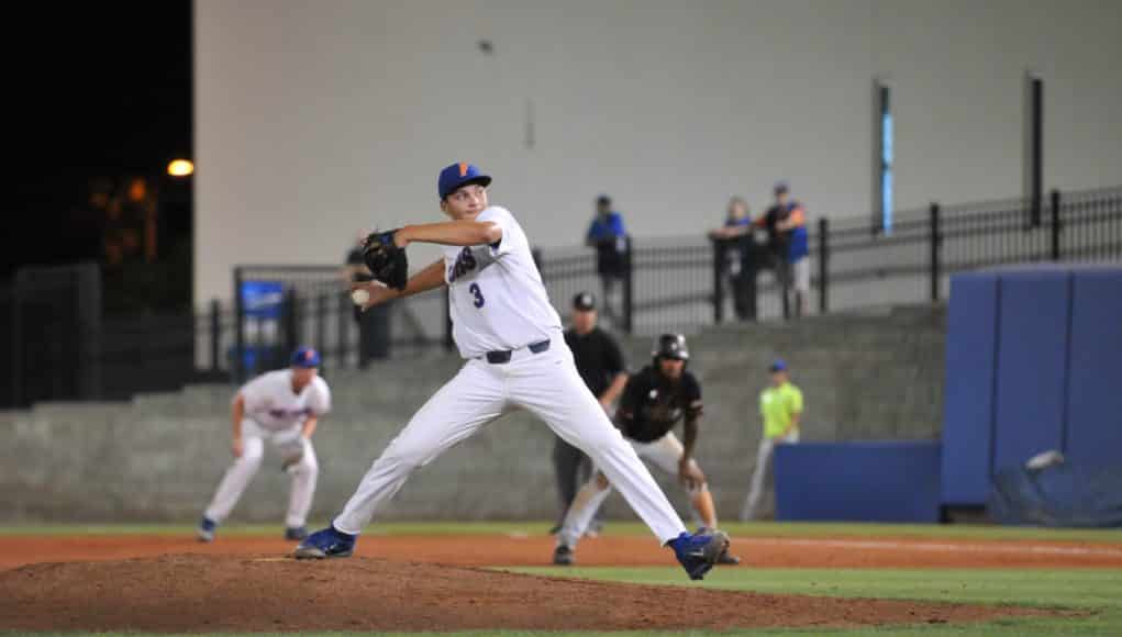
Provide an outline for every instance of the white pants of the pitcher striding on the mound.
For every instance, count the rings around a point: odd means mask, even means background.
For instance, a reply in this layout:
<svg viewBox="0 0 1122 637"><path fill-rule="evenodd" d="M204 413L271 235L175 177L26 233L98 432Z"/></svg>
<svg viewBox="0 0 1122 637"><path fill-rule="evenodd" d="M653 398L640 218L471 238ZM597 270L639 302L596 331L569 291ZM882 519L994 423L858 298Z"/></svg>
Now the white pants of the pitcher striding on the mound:
<svg viewBox="0 0 1122 637"><path fill-rule="evenodd" d="M545 422L587 453L663 543L686 526L623 435L608 421L560 336L539 354L523 348L511 362L472 359L440 388L374 462L333 525L357 534L415 469L514 407Z"/></svg>

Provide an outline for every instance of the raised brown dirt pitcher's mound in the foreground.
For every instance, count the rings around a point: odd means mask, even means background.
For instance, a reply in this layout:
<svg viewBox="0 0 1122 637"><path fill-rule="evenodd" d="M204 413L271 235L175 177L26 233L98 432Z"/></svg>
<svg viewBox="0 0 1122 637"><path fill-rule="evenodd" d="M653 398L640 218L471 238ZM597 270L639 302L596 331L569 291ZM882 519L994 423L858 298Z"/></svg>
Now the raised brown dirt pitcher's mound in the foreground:
<svg viewBox="0 0 1122 637"><path fill-rule="evenodd" d="M169 555L0 572L0 629L9 630L727 629L1046 612L613 584L362 557Z"/></svg>

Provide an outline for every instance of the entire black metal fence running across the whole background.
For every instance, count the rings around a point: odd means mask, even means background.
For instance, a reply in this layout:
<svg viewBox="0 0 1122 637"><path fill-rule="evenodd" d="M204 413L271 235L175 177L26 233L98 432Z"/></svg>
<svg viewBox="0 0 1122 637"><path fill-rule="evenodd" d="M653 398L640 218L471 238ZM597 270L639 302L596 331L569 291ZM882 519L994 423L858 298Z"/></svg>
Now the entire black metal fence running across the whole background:
<svg viewBox="0 0 1122 637"><path fill-rule="evenodd" d="M535 259L562 315L573 295L591 290L600 297L601 316L623 332L781 320L790 306L773 259L762 236L747 240L737 274L729 270L736 259L725 241L629 239L624 274L607 281L607 294L589 248L535 250ZM948 293L949 275L958 271L1122 260L1122 187L1054 191L1039 202L932 203L898 213L888 230L866 220L820 218L811 223L810 248L811 313L939 301ZM0 290L0 331L13 343L6 350L10 373L0 387L3 404L121 397L192 379L241 379L285 364L297 343L320 349L328 373L361 366L366 357L360 352L371 342L378 356L395 358L440 356L451 348L447 295L388 304L364 327L343 276L335 266L240 266L232 303L212 302L194 316L99 322L91 318L95 299L89 292L84 310L59 301L59 281L76 279L59 271L28 274L16 288ZM737 283L748 285L746 306L734 307ZM59 322L76 314L84 317L80 324ZM364 334L374 340L364 341Z"/></svg>

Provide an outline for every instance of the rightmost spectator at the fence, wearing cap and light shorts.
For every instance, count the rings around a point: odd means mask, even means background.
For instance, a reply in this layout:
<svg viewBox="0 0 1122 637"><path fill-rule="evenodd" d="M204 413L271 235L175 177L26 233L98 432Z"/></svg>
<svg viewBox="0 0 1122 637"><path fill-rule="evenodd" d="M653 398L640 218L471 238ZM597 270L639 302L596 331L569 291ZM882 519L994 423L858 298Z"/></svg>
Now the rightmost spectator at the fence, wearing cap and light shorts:
<svg viewBox="0 0 1122 637"><path fill-rule="evenodd" d="M802 204L790 197L789 191L787 182L775 184L775 204L756 224L767 230L775 278L782 288L783 314L787 316L787 308L793 305L794 315L802 316L810 295L810 260L807 258L810 246L806 212Z"/></svg>

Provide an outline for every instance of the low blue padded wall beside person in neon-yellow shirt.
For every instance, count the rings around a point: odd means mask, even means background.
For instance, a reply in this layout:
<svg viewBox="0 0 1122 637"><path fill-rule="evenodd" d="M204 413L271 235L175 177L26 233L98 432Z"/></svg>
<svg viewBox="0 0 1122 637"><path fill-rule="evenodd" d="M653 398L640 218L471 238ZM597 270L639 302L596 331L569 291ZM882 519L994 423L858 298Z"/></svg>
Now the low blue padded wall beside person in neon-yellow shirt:
<svg viewBox="0 0 1122 637"><path fill-rule="evenodd" d="M939 521L938 442L775 447L775 519Z"/></svg>

